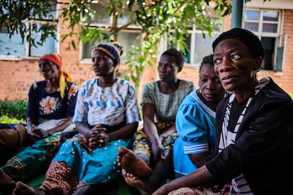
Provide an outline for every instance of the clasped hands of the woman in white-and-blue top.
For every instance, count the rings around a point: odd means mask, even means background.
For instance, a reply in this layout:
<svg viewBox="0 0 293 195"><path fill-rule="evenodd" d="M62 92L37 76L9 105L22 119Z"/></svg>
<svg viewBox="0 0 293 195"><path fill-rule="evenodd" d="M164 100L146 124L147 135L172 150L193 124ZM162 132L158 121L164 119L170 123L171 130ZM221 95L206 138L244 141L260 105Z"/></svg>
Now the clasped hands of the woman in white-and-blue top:
<svg viewBox="0 0 293 195"><path fill-rule="evenodd" d="M104 146L109 142L109 136L106 134L105 127L102 127L100 124L93 126L91 131L88 131L86 136L78 136L79 141L86 147L88 151L92 151L95 148Z"/></svg>

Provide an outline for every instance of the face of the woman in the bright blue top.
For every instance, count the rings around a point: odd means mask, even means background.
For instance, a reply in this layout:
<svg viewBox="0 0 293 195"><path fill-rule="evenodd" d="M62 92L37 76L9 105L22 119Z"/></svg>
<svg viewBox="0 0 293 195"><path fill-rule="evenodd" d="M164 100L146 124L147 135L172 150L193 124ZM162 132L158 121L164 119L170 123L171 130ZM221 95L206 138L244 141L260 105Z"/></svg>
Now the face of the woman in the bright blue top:
<svg viewBox="0 0 293 195"><path fill-rule="evenodd" d="M207 102L218 102L224 98L226 91L214 72L214 66L212 64L202 64L198 85L202 91L202 97Z"/></svg>

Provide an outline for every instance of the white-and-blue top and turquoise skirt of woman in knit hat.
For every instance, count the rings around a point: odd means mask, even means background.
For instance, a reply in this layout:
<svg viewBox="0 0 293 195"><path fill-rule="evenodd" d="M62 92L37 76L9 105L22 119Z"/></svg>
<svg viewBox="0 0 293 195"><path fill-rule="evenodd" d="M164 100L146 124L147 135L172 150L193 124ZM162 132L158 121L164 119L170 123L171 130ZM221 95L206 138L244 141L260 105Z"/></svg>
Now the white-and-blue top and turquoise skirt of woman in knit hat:
<svg viewBox="0 0 293 195"><path fill-rule="evenodd" d="M139 119L136 90L130 82L115 78L112 86L100 87L98 78L95 78L81 85L76 101L74 122L85 122L89 126L96 124L116 126L123 122L136 123ZM131 148L132 137L110 141L105 146L88 151L80 146L75 136L62 145L52 160L47 175L54 177L54 170L61 172L66 170L64 174L68 176L67 183L60 181L59 185L70 186L71 192L84 185L108 182L120 175L121 168L116 162L120 146ZM72 180L70 181L69 178ZM53 184L50 184L46 178L42 187L47 189L47 186L52 187Z"/></svg>

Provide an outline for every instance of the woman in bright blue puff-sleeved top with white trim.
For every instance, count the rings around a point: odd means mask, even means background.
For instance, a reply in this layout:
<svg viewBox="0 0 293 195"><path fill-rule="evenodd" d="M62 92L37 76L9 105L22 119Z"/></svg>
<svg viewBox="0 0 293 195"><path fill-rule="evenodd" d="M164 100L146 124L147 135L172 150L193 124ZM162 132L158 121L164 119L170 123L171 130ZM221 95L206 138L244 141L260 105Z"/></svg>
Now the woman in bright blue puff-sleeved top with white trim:
<svg viewBox="0 0 293 195"><path fill-rule="evenodd" d="M216 143L216 107L225 90L214 72L213 55L202 59L199 89L181 103L176 115L178 138L173 146L175 177L182 177L204 165Z"/></svg>

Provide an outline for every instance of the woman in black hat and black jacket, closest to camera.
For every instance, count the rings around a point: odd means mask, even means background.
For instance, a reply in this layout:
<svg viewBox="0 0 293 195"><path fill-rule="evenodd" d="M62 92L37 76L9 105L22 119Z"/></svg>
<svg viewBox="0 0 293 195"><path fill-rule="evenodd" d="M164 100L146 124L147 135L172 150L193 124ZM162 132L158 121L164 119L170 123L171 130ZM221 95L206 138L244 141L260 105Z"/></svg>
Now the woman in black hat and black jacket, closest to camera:
<svg viewBox="0 0 293 195"><path fill-rule="evenodd" d="M195 193L229 181L226 187L235 194L293 194L293 103L272 78L258 81L264 60L260 40L234 28L219 35L212 47L214 70L232 92L217 107L216 154L154 194L174 189L170 194Z"/></svg>

